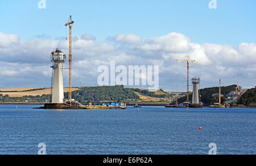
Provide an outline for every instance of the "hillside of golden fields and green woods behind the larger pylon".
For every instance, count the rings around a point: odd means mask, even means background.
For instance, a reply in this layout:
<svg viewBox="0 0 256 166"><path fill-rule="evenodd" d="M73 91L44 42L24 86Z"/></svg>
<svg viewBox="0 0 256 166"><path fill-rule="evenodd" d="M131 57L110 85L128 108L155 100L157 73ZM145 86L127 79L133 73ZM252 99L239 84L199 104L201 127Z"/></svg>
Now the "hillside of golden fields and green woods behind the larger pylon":
<svg viewBox="0 0 256 166"><path fill-rule="evenodd" d="M68 98L68 88L64 88ZM51 98L51 88L0 89L0 102L46 102ZM79 102L164 102L171 94L158 90L124 88L124 86L96 86L72 88L72 98Z"/></svg>

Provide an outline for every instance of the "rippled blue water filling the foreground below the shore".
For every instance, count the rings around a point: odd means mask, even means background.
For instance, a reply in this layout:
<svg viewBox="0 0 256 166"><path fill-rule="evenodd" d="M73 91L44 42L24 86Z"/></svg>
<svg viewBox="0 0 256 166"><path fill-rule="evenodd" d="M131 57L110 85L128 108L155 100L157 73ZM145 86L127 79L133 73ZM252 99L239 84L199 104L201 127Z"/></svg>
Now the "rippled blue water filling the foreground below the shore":
<svg viewBox="0 0 256 166"><path fill-rule="evenodd" d="M256 154L255 109L35 110L0 106L0 154ZM203 130L199 130L203 127Z"/></svg>

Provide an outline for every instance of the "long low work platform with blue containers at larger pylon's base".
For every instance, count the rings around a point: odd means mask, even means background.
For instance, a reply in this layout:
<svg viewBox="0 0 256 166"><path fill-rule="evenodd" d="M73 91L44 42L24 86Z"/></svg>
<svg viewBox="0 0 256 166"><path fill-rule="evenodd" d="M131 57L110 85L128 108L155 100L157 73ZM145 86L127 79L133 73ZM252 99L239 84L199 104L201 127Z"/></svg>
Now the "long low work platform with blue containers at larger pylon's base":
<svg viewBox="0 0 256 166"><path fill-rule="evenodd" d="M65 102L65 103L45 103L43 107L35 109L47 109L47 110L118 110L127 109L126 104L123 103L109 103L102 105L82 105L79 102Z"/></svg>

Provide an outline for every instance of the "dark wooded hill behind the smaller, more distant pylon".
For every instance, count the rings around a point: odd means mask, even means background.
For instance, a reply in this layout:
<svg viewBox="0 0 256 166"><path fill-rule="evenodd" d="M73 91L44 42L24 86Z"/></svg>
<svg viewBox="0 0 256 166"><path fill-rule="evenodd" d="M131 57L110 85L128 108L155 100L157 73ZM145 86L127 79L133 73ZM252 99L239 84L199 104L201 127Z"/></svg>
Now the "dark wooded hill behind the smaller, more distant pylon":
<svg viewBox="0 0 256 166"><path fill-rule="evenodd" d="M223 103L226 99L226 95L232 91L236 90L237 85L230 85L230 86L222 86L221 87L221 94L224 95L224 97L221 98L221 102ZM213 103L218 102L218 97L213 97L212 94L218 93L219 88L213 87L213 88L205 88L200 89L201 94L201 102L204 103L204 105L212 105ZM179 103L183 103L187 101L187 96L182 97L178 99ZM189 94L189 101L192 101L192 93Z"/></svg>

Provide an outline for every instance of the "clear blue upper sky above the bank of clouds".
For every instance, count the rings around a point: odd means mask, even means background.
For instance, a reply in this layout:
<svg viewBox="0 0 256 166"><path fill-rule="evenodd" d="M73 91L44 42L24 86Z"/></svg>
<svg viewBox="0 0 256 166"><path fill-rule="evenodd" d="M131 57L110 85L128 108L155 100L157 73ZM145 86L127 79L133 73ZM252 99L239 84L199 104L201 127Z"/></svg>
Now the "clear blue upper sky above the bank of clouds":
<svg viewBox="0 0 256 166"><path fill-rule="evenodd" d="M217 9L209 9L210 0L141 1L58 1L46 0L46 9L38 9L39 0L1 1L0 30L19 35L21 40L37 35L52 39L66 35L64 23L75 19L74 35L85 32L105 40L119 33L143 38L179 32L196 43L254 43L256 39L255 0L217 0Z"/></svg>

